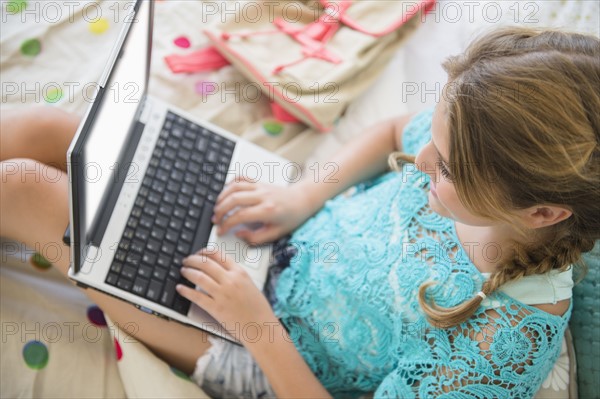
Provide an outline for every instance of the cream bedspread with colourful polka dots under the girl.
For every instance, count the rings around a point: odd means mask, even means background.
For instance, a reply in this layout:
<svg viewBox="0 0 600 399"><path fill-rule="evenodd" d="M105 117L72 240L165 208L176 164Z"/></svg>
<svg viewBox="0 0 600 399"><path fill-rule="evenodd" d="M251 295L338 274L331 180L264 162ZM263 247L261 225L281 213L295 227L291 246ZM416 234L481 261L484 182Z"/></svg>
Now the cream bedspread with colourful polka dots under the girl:
<svg viewBox="0 0 600 399"><path fill-rule="evenodd" d="M46 104L82 115L128 6L108 0L2 1L0 111ZM207 44L201 15L201 2L157 2L151 93L303 165L327 160L377 121L434 105L445 82L441 60L460 52L480 31L530 24L600 35L597 1L440 0L334 129L320 133L275 120L266 103L206 101L199 82L244 82L232 67L172 73L166 55ZM1 397L203 397L187 376L114 328L82 292L33 256L44 248L1 244ZM597 301L591 306L598 309ZM593 316L582 315L580 324ZM596 340L592 353L597 345ZM538 397L574 397L574 369L573 346L565 339Z"/></svg>

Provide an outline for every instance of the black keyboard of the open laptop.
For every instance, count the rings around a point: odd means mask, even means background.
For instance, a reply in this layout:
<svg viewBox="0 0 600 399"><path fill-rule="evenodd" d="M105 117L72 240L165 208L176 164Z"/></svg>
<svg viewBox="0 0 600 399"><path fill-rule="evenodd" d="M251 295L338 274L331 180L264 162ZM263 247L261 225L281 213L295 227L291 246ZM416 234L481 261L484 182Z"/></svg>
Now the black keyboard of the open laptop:
<svg viewBox="0 0 600 399"><path fill-rule="evenodd" d="M106 283L181 314L181 261L204 248L235 142L168 113Z"/></svg>

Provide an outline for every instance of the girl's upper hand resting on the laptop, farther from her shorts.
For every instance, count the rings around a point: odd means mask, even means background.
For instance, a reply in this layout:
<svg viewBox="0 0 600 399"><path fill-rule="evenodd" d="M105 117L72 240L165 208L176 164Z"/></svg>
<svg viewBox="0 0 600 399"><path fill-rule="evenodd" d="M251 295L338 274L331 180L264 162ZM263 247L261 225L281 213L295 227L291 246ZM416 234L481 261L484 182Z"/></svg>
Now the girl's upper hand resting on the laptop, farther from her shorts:
<svg viewBox="0 0 600 399"><path fill-rule="evenodd" d="M257 229L241 228L236 232L237 237L258 245L293 231L316 210L301 184L278 187L237 178L217 197L213 223L219 235L242 223L260 223Z"/></svg>

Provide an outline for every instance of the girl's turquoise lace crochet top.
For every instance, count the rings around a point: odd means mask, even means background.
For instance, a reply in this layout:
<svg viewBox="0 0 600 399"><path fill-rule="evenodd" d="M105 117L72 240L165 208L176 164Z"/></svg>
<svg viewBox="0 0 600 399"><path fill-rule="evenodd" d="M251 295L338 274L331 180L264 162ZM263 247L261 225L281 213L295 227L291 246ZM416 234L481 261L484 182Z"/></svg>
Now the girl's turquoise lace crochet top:
<svg viewBox="0 0 600 399"><path fill-rule="evenodd" d="M430 139L432 111L415 116L403 148ZM560 317L497 292L449 329L430 325L419 286L457 305L484 276L454 222L428 207L428 177L414 165L328 201L291 242L298 254L277 283L275 312L335 397L529 398L558 358L571 310Z"/></svg>

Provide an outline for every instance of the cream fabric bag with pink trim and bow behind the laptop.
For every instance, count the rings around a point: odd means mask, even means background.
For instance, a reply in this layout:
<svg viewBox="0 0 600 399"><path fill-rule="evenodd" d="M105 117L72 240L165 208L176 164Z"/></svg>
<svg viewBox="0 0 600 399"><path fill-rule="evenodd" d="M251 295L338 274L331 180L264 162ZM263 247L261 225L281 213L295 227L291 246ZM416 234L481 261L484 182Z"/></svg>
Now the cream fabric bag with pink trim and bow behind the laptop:
<svg viewBox="0 0 600 399"><path fill-rule="evenodd" d="M328 131L434 3L252 2L256 19L229 14L224 23L204 31L213 47L172 55L166 62L177 73L231 63L268 96L278 119Z"/></svg>

